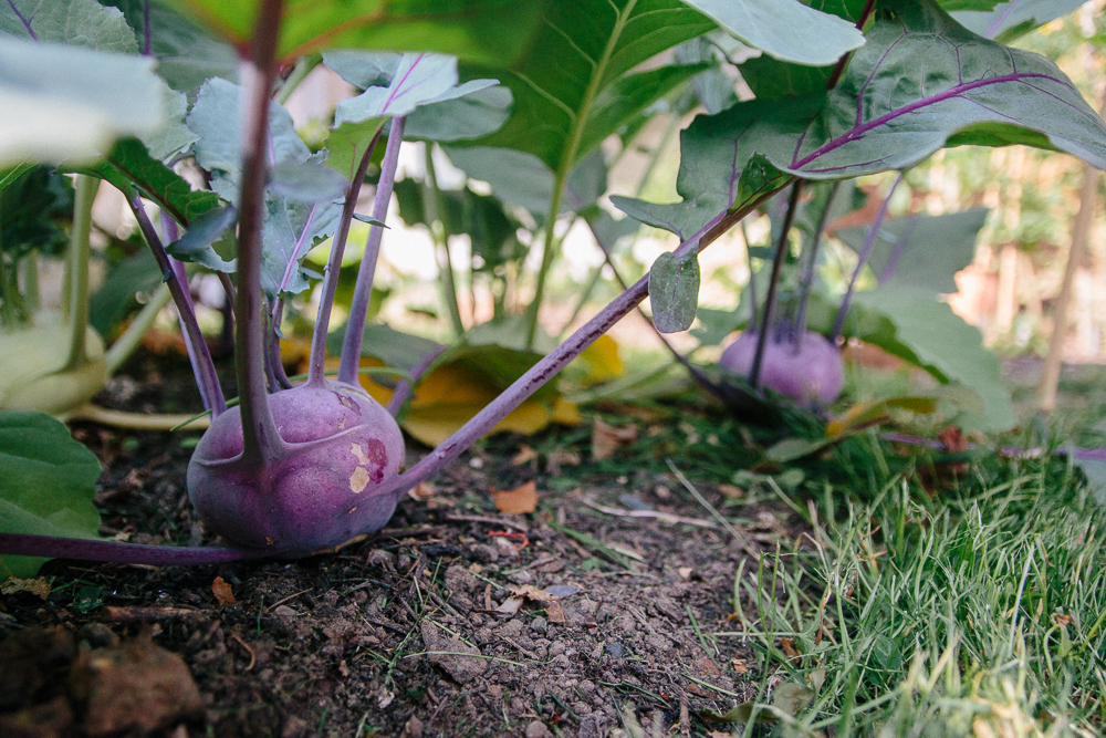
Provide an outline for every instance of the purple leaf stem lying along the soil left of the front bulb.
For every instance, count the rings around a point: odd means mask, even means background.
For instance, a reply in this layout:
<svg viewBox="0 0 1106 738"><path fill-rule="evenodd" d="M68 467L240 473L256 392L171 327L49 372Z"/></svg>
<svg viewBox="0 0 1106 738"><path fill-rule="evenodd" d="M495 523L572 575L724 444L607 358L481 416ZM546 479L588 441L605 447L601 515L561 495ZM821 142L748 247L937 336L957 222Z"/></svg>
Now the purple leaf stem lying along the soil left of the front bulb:
<svg viewBox="0 0 1106 738"><path fill-rule="evenodd" d="M279 555L279 551L226 549L215 545L146 545L87 538L0 533L0 553L13 557L46 557L80 561L153 564L215 564L242 559Z"/></svg>

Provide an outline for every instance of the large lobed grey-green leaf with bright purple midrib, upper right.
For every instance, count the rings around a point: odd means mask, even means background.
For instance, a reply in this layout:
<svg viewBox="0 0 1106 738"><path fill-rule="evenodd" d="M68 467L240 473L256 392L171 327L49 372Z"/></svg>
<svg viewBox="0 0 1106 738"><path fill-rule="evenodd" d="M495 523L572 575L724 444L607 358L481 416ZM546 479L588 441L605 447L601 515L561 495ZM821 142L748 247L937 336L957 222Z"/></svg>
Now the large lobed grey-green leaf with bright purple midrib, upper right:
<svg viewBox="0 0 1106 738"><path fill-rule="evenodd" d="M765 159L761 180L776 187L773 167L841 179L905 168L962 144L1027 144L1106 168L1106 125L1055 64L971 33L932 0L880 0L868 42L832 92L700 116L680 139L682 202L612 199L645 222L689 235L743 204L734 184L754 155Z"/></svg>

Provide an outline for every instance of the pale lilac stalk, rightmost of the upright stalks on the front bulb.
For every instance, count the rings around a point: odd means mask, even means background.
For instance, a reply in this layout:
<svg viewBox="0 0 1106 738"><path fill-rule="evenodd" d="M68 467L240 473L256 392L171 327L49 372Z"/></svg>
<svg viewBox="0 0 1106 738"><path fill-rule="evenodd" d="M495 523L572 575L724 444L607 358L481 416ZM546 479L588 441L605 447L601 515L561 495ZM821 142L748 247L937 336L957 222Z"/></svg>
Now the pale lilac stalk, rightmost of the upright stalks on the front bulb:
<svg viewBox="0 0 1106 738"><path fill-rule="evenodd" d="M380 165L380 181L376 186L376 200L373 204L373 217L384 222L388 216L388 202L392 201L392 188L396 181L396 167L399 164L399 146L404 143L404 124L400 116L392 119L392 131L388 133L388 147L384 152L384 163ZM365 256L361 258L357 270L357 284L353 290L349 304L349 320L346 322L345 340L342 343L342 358L338 363L338 382L357 384L357 370L361 366L361 342L365 333L365 320L368 316L368 301L373 297L373 277L376 273L376 258L380 252L380 239L384 237L382 226L371 226L368 240L365 241Z"/></svg>

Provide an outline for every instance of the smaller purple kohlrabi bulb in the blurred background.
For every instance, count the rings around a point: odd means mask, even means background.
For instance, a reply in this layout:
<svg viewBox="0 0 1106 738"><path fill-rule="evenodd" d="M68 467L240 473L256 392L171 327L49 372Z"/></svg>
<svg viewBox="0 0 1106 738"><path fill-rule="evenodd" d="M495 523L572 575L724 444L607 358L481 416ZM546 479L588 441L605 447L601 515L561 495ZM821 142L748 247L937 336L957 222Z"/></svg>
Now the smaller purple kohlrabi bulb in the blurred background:
<svg viewBox="0 0 1106 738"><path fill-rule="evenodd" d="M841 395L845 370L841 352L820 333L804 331L799 341L787 332L771 335L764 344L760 383L773 392L803 404L828 405ZM734 374L748 377L757 354L757 333L745 331L731 343L719 364Z"/></svg>

